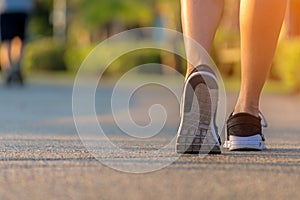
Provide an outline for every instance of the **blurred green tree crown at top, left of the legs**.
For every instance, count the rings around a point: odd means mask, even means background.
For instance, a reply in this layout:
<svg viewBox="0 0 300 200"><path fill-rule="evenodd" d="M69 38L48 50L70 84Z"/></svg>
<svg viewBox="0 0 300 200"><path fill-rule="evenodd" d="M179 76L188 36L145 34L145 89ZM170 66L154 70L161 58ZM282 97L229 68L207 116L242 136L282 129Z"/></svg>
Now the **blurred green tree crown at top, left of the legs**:
<svg viewBox="0 0 300 200"><path fill-rule="evenodd" d="M153 19L151 2L153 0L77 0L70 4L77 16L73 22L85 28L92 40L99 40L101 35L107 37L127 27L150 25Z"/></svg>

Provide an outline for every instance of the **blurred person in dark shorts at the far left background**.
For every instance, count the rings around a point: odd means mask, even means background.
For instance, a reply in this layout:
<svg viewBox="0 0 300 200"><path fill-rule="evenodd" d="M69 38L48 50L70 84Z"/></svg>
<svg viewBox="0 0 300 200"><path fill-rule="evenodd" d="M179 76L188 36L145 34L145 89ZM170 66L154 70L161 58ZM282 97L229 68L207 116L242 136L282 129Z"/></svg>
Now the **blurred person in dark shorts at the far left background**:
<svg viewBox="0 0 300 200"><path fill-rule="evenodd" d="M33 0L0 0L0 64L7 85L23 85L21 61L28 15Z"/></svg>

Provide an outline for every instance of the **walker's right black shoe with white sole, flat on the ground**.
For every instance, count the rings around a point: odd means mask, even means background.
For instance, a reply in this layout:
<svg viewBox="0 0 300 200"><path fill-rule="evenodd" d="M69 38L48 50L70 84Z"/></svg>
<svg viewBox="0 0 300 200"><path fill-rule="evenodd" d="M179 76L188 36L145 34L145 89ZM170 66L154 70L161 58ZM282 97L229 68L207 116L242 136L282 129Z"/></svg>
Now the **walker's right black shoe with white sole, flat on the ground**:
<svg viewBox="0 0 300 200"><path fill-rule="evenodd" d="M264 121L266 122L265 118ZM248 113L231 114L227 120L224 147L231 151L264 150L266 146L263 127L267 127L267 124L261 123L261 117Z"/></svg>

